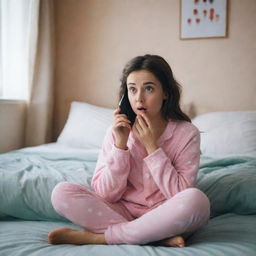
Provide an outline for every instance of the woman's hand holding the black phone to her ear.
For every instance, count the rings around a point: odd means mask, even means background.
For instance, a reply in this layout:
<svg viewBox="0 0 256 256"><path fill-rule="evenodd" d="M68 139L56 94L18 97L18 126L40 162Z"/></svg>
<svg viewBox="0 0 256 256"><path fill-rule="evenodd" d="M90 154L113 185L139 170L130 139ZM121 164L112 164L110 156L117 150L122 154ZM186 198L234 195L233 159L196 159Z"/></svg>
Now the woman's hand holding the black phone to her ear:
<svg viewBox="0 0 256 256"><path fill-rule="evenodd" d="M115 146L127 149L127 141L131 131L131 121L125 114L119 114L120 108L114 111L114 123L112 130L115 136Z"/></svg>

